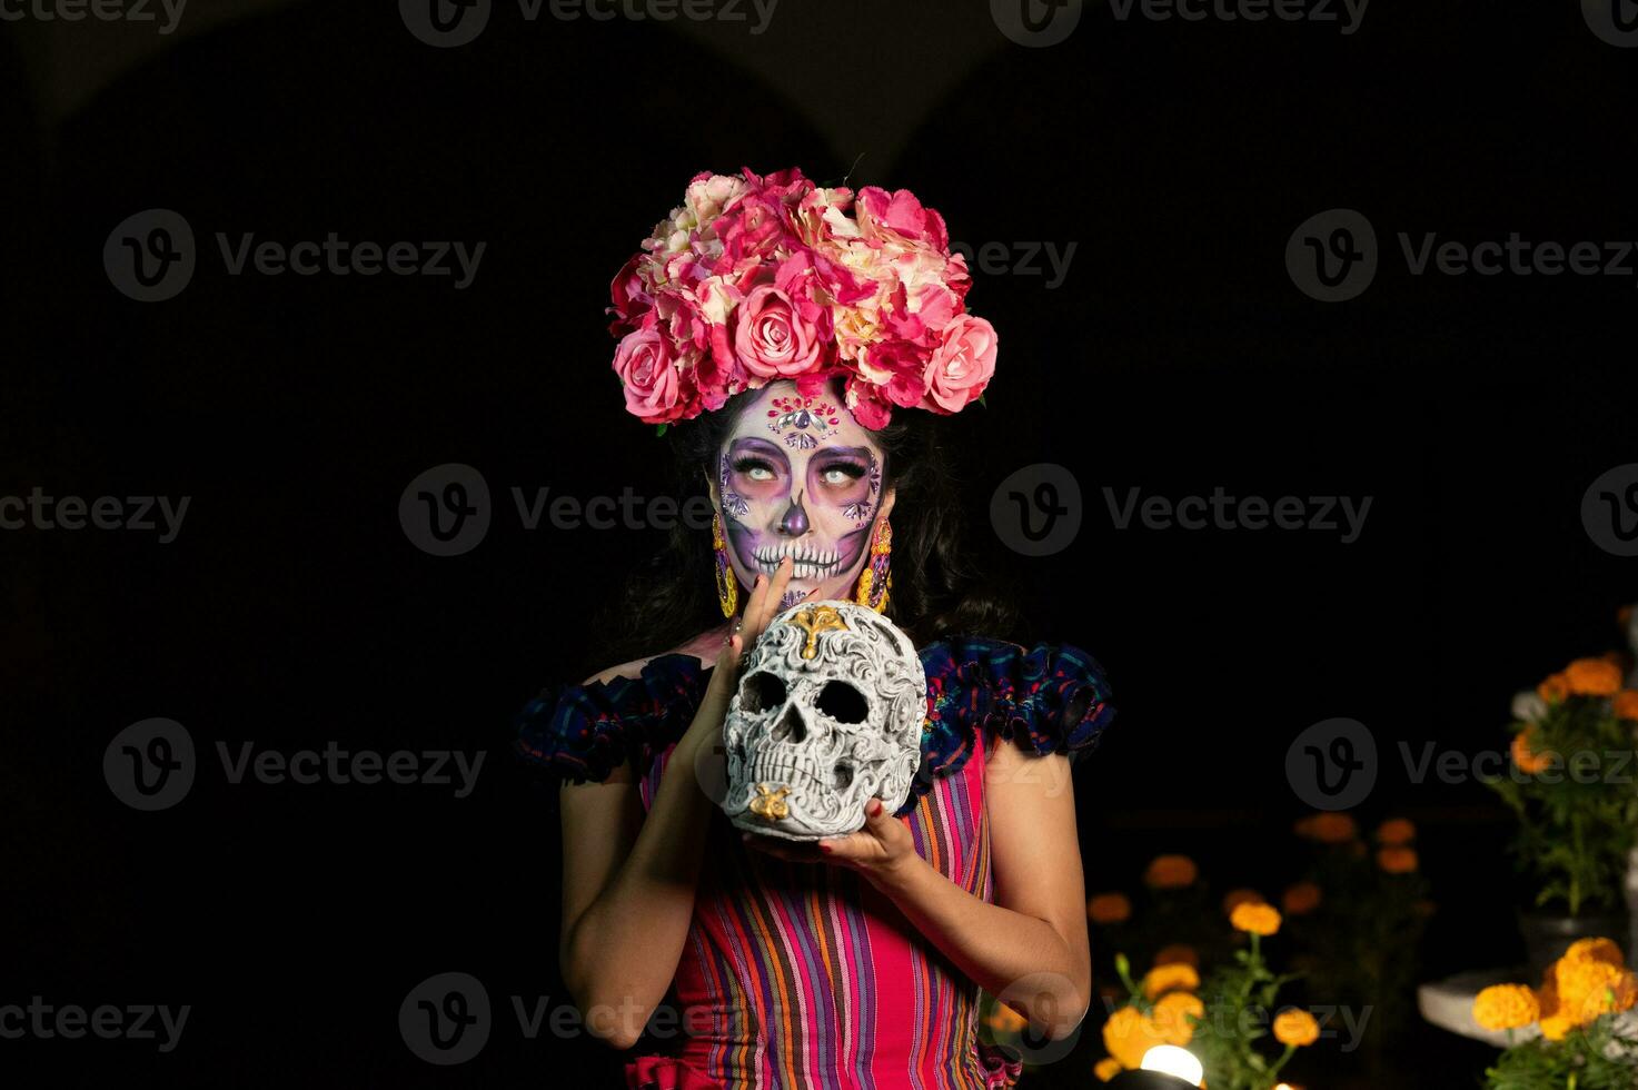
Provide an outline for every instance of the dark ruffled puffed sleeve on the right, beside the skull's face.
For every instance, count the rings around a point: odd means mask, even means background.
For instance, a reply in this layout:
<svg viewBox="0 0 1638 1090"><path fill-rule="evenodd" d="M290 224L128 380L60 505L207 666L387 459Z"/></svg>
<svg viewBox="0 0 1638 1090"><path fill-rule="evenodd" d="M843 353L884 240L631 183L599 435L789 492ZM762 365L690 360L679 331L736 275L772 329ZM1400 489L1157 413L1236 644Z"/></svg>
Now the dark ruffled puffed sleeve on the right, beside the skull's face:
<svg viewBox="0 0 1638 1090"><path fill-rule="evenodd" d="M966 764L978 729L1035 757L1075 754L1091 751L1115 713L1104 669L1070 644L1025 651L968 636L929 644L921 659L927 726L917 797Z"/></svg>

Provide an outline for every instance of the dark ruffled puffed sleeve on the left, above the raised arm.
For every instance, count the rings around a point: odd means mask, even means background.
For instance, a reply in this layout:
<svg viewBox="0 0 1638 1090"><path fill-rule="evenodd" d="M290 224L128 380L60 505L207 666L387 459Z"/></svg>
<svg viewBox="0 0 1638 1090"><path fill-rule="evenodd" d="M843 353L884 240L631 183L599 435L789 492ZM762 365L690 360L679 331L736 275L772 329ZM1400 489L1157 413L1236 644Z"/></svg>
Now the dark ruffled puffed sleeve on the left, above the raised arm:
<svg viewBox="0 0 1638 1090"><path fill-rule="evenodd" d="M640 770L688 729L708 680L698 659L667 654L639 677L545 688L518 713L514 749L575 783L601 783L629 757Z"/></svg>

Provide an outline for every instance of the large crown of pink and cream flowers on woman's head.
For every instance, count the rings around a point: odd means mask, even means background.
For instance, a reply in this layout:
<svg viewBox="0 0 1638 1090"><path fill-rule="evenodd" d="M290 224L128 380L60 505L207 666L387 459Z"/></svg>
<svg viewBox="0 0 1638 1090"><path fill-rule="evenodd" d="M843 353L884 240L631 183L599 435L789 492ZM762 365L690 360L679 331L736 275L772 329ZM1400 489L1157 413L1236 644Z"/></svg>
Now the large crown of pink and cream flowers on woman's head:
<svg viewBox="0 0 1638 1090"><path fill-rule="evenodd" d="M614 374L652 425L780 379L804 397L842 379L871 429L894 406L948 415L996 369L970 285L943 216L909 190L822 188L794 167L698 174L614 277Z"/></svg>

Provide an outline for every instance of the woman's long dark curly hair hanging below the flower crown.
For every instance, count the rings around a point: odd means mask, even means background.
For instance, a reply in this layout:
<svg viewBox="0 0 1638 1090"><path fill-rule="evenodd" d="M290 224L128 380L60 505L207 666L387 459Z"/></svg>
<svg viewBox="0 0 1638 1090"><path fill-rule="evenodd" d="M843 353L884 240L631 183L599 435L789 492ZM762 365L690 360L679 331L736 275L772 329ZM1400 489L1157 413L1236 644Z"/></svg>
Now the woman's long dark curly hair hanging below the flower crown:
<svg viewBox="0 0 1638 1090"><path fill-rule="evenodd" d="M706 493L722 443L752 397L739 393L721 410L665 431L680 502ZM958 474L942 429L934 413L904 410L871 431L885 452L883 488L896 488L886 615L917 646L953 634L1011 638L1020 616L1012 595L998 585L999 565L986 565L994 570L980 579L966 551ZM611 611L598 624L603 662L658 654L721 624L709 534L678 520L665 547L632 574Z"/></svg>

